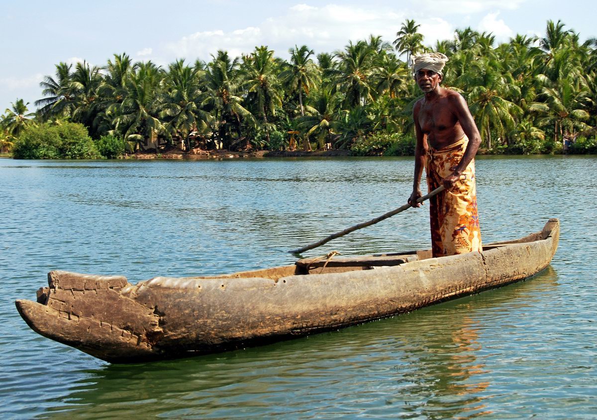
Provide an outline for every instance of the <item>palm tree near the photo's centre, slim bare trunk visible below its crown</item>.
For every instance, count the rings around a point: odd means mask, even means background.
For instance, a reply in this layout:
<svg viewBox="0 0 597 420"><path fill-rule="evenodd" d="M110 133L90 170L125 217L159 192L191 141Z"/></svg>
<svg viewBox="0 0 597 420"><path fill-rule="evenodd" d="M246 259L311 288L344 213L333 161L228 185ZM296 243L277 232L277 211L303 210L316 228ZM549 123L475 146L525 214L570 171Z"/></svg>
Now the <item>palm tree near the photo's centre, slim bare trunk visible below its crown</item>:
<svg viewBox="0 0 597 420"><path fill-rule="evenodd" d="M288 50L290 53L290 63L286 64L286 69L280 73L280 78L290 89L291 93L298 92L298 105L300 106L300 115L304 116L303 91L309 94L316 83L320 82L315 63L309 57L313 50L309 50L307 45Z"/></svg>

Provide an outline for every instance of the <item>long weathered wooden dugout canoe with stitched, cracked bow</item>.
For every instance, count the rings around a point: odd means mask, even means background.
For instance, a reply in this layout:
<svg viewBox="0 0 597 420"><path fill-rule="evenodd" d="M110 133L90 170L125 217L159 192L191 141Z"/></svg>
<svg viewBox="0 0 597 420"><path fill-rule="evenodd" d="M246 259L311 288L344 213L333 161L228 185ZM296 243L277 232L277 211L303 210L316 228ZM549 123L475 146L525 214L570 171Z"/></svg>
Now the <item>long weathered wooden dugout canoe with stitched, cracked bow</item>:
<svg viewBox="0 0 597 420"><path fill-rule="evenodd" d="M303 259L212 277L48 273L37 302L17 300L39 334L111 363L231 350L412 311L531 277L556 252L559 220L541 232L441 258L430 251Z"/></svg>

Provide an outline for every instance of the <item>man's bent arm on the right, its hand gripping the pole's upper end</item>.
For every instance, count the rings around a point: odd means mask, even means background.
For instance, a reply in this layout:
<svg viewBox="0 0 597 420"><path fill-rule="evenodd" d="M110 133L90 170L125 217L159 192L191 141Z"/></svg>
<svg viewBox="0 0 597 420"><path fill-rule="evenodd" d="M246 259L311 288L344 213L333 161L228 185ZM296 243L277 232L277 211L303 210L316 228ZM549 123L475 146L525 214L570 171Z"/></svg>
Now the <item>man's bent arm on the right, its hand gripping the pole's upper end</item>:
<svg viewBox="0 0 597 420"><path fill-rule="evenodd" d="M469 138L469 144L466 146L464 155L454 172L444 178L444 186L446 189L451 189L454 186L454 183L460 179L460 176L464 170L466 170L466 167L469 165L470 161L475 158L475 155L479 150L479 146L481 145L481 135L479 134L479 130L475 124L473 116L470 114L469 106L466 105L466 101L461 94L455 93L451 95L450 105L453 107L454 114L456 114L464 134L466 134L466 136Z"/></svg>

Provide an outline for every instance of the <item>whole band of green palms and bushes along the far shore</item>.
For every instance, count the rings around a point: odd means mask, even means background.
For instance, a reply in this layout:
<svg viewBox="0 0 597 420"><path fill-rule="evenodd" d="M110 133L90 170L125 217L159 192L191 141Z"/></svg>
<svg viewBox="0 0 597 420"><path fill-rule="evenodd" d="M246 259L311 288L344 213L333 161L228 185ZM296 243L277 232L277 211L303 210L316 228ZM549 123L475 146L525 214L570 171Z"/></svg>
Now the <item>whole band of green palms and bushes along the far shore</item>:
<svg viewBox="0 0 597 420"><path fill-rule="evenodd" d="M0 117L0 155L17 159L404 156L421 97L411 57L449 57L442 85L466 99L485 154L597 153L597 38L547 22L543 37L496 45L470 27L424 45L414 20L333 53L266 46L166 67L114 54L103 67L56 65L35 112ZM401 57L405 57L402 60Z"/></svg>

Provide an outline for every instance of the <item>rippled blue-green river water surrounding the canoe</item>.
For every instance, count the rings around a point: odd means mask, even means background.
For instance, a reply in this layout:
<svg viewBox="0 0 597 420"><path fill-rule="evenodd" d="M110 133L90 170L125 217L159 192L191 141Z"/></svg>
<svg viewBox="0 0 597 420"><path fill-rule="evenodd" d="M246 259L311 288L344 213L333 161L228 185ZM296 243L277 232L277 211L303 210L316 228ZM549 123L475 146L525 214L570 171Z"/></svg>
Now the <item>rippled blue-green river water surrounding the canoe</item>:
<svg viewBox="0 0 597 420"><path fill-rule="evenodd" d="M529 281L264 347L116 366L32 332L14 307L51 269L211 275L294 262L285 251L401 206L408 158L0 160L3 418L594 418L596 157L480 157L485 243L559 217ZM429 247L408 210L305 256Z"/></svg>

